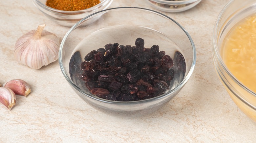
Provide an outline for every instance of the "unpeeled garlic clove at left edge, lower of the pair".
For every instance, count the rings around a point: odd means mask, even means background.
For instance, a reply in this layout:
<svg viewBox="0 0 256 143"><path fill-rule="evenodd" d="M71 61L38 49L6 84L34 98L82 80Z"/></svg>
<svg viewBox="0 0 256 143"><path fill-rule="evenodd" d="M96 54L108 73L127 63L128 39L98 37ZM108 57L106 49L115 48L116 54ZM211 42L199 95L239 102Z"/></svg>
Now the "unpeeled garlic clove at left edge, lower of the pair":
<svg viewBox="0 0 256 143"><path fill-rule="evenodd" d="M0 103L11 110L16 103L15 93L8 87L0 87Z"/></svg>

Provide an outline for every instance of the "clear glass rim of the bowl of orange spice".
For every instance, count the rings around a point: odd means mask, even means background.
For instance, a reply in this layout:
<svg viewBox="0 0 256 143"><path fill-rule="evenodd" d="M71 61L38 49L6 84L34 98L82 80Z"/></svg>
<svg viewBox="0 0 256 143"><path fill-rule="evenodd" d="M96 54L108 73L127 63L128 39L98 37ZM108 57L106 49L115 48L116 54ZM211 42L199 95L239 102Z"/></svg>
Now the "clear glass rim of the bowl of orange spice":
<svg viewBox="0 0 256 143"><path fill-rule="evenodd" d="M70 13L73 13L73 14L74 13L79 13L80 14L80 13L84 13L84 12L93 11L93 10L101 7L105 2L111 2L113 0L102 0L102 1L100 1L99 4L97 4L97 5L95 5L91 8L86 8L86 9L82 9L82 10L75 10L75 11L59 10L59 9L48 7L45 4L43 4L42 2L40 2L39 0L33 0L33 1L36 2L40 7L44 8L46 10L51 10L51 11L58 12L58 13L63 13L63 14L65 14L65 13L68 13L68 14L70 14Z"/></svg>

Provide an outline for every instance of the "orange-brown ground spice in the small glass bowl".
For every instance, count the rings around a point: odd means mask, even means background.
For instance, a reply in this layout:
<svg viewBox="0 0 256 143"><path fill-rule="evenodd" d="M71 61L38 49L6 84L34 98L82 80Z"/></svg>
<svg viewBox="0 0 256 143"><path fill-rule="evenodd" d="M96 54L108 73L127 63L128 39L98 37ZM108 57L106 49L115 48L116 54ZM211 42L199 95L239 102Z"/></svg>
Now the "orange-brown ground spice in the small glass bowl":
<svg viewBox="0 0 256 143"><path fill-rule="evenodd" d="M91 8L99 4L99 0L47 0L46 5L51 8L76 11Z"/></svg>

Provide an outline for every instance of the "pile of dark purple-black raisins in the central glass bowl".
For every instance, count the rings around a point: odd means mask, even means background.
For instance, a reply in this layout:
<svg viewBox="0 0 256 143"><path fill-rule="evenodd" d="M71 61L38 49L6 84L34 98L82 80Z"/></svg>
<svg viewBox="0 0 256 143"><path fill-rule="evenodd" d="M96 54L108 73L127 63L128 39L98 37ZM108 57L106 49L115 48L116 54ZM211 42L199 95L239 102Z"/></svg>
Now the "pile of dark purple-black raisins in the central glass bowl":
<svg viewBox="0 0 256 143"><path fill-rule="evenodd" d="M91 51L81 63L82 80L92 94L113 101L138 101L159 96L174 77L173 60L158 45L144 47L106 44Z"/></svg>

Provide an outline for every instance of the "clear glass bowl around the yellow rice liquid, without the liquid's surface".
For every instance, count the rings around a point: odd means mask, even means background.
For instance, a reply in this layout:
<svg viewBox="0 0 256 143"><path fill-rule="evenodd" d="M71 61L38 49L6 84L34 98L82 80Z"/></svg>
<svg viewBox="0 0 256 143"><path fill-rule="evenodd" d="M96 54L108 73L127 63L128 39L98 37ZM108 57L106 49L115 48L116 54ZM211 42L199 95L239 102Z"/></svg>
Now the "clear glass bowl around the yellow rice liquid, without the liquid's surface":
<svg viewBox="0 0 256 143"><path fill-rule="evenodd" d="M234 103L247 116L256 121L256 94L245 87L228 70L222 55L225 37L229 34L232 27L253 14L256 14L255 0L231 0L222 9L214 25L213 61L215 70Z"/></svg>

